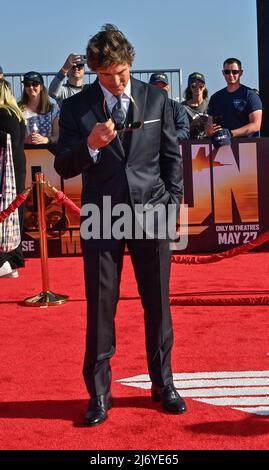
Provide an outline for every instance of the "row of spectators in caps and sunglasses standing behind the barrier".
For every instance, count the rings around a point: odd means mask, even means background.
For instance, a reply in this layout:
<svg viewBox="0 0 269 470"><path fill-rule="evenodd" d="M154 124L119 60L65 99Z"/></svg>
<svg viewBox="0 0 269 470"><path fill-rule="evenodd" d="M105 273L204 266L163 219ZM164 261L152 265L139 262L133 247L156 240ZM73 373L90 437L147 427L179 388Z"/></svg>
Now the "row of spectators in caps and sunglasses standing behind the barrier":
<svg viewBox="0 0 269 470"><path fill-rule="evenodd" d="M48 90L39 72L30 71L24 75L22 97L18 106L26 119L25 143L57 143L63 100L88 86L84 84L85 62L83 56L71 53L51 81ZM240 60L226 59L222 74L227 86L214 93L210 99L205 75L193 72L188 77L184 101L179 103L169 100L179 141L212 137L221 129L225 129L229 137L259 136L262 103L256 89L241 83L243 69ZM2 67L0 80L5 80ZM7 81L6 83L9 85ZM153 73L149 83L167 92L170 89L168 76L162 71ZM49 97L55 102L50 102ZM212 140L214 142L214 138Z"/></svg>

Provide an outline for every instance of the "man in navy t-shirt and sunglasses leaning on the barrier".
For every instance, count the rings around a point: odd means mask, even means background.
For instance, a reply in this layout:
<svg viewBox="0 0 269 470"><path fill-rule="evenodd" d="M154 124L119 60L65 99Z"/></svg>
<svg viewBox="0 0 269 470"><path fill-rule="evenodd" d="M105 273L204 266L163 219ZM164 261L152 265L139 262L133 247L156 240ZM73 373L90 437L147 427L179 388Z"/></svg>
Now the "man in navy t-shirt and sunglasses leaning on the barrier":
<svg viewBox="0 0 269 470"><path fill-rule="evenodd" d="M259 95L240 83L243 75L239 59L229 58L223 63L227 87L214 93L209 101L208 136L220 129L228 129L232 137L258 137L262 123L262 102Z"/></svg>

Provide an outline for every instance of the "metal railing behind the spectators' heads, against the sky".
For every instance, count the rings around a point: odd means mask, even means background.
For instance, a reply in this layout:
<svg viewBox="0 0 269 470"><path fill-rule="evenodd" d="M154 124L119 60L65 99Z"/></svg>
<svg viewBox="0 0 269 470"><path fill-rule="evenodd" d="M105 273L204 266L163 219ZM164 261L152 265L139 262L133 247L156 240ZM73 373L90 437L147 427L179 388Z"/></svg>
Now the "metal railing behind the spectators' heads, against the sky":
<svg viewBox="0 0 269 470"><path fill-rule="evenodd" d="M151 70L131 70L131 74L134 78L138 78L143 82L148 83L150 75L152 73L165 72L168 75L170 90L170 98L182 101L182 69L151 69ZM24 72L25 73L25 72ZM17 100L20 100L23 84L22 79L24 73L5 73L5 78L10 82L14 96ZM57 72L40 72L43 76L46 88L49 87L51 80ZM95 73L85 71L85 83L92 83L96 78Z"/></svg>

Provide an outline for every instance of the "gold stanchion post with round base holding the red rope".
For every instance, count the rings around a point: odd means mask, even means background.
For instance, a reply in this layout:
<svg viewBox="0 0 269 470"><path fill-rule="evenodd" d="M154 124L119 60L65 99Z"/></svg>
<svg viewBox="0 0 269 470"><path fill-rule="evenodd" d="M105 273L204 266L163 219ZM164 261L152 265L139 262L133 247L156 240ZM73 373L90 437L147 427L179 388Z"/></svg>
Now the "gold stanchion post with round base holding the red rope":
<svg viewBox="0 0 269 470"><path fill-rule="evenodd" d="M43 291L34 297L28 297L24 300L25 305L29 307L43 307L64 304L68 295L55 294L49 290L49 271L48 271L48 244L45 216L45 181L43 173L36 173L35 183L37 187L37 209L39 225L39 244L41 256L42 289Z"/></svg>

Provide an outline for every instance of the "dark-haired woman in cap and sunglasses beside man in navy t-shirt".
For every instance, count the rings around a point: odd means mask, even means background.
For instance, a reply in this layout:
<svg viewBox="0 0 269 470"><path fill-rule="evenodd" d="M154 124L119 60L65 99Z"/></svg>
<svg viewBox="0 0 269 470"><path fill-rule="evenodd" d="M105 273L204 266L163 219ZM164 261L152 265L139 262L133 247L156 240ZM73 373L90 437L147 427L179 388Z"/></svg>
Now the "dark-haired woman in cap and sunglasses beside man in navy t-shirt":
<svg viewBox="0 0 269 470"><path fill-rule="evenodd" d="M193 72L189 75L184 97L182 105L188 115L191 139L206 138L208 90L202 73Z"/></svg>

